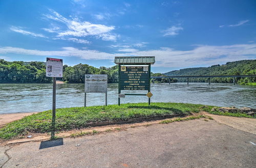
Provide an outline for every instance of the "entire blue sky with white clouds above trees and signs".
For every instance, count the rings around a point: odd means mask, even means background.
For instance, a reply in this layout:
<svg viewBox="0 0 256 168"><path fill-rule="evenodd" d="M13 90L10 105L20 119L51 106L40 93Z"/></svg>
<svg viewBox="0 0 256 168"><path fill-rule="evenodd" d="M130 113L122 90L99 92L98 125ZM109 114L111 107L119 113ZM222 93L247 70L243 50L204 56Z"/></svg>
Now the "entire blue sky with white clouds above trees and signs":
<svg viewBox="0 0 256 168"><path fill-rule="evenodd" d="M256 1L0 0L0 59L114 66L155 56L154 73L256 59Z"/></svg>

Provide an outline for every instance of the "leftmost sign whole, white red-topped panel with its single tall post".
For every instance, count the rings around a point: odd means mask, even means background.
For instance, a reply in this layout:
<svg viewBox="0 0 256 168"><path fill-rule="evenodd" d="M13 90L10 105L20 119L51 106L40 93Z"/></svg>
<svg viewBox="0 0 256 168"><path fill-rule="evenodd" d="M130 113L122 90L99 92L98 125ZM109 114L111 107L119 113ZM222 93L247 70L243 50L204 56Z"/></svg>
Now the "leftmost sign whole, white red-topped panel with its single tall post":
<svg viewBox="0 0 256 168"><path fill-rule="evenodd" d="M53 77L51 139L54 139L56 120L56 77L63 76L63 60L46 58L46 76Z"/></svg>

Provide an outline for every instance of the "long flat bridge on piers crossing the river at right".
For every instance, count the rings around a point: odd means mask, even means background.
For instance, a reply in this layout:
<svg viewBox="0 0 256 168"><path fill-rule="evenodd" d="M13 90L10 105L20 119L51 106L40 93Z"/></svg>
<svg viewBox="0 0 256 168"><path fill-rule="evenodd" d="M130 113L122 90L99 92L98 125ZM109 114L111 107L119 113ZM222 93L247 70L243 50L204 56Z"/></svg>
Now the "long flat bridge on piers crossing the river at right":
<svg viewBox="0 0 256 168"><path fill-rule="evenodd" d="M195 75L195 76L151 76L151 78L153 79L153 83L154 83L154 79L156 78L187 78L187 84L188 84L188 80L189 78L192 77L206 77L209 78L209 85L210 85L210 78L212 77L233 77L233 85L235 84L235 78L236 77L256 77L256 75ZM169 79L169 84L170 84L170 79Z"/></svg>

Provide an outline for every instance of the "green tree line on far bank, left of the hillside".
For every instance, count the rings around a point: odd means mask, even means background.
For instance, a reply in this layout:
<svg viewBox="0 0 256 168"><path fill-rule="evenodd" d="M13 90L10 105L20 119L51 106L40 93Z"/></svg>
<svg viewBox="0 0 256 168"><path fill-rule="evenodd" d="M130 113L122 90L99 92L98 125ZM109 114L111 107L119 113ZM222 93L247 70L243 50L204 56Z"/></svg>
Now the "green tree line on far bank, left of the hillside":
<svg viewBox="0 0 256 168"><path fill-rule="evenodd" d="M84 83L84 74L108 74L109 83L118 82L118 66L95 68L87 64L63 66L63 77L57 78L69 83ZM155 74L152 73L154 76ZM156 74L161 76L163 74ZM51 77L46 77L45 62L8 62L0 59L0 83L50 83ZM158 79L158 82L168 82Z"/></svg>

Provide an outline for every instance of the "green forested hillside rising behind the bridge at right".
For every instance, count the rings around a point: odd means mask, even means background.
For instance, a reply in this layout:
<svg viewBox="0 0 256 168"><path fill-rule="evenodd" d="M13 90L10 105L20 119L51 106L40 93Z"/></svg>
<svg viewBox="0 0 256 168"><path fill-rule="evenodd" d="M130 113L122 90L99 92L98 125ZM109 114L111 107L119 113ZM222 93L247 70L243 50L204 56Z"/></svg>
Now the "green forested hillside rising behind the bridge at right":
<svg viewBox="0 0 256 168"><path fill-rule="evenodd" d="M243 60L236 62L227 62L225 65L212 65L211 67L186 68L164 73L166 76L185 76L185 75L255 75L256 60ZM179 78L179 81L185 81L185 78ZM189 81L207 82L207 78L189 78ZM211 82L232 82L232 78L211 78ZM236 78L236 82L245 84L256 82L255 77Z"/></svg>

